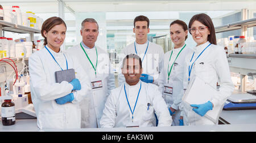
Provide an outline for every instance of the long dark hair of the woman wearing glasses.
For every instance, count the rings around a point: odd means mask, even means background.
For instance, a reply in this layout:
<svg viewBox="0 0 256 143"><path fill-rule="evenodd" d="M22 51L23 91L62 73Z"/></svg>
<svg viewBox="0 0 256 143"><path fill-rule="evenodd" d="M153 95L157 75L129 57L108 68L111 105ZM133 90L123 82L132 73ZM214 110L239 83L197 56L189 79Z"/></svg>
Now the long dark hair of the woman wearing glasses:
<svg viewBox="0 0 256 143"><path fill-rule="evenodd" d="M211 44L217 45L215 29L214 29L214 25L213 25L212 19L210 19L210 16L208 16L207 14L197 14L197 15L194 15L191 18L191 20L189 21L188 28L191 28L191 25L196 20L208 27L208 30L210 31L210 34L208 35L207 40ZM190 31L189 31L189 33L191 34Z"/></svg>

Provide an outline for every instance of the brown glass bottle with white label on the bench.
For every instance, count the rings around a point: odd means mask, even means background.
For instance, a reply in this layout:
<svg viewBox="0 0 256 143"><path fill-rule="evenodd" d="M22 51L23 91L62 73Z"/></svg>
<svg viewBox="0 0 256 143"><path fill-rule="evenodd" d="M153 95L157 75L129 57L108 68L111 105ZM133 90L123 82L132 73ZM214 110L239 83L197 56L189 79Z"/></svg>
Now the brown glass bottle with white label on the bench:
<svg viewBox="0 0 256 143"><path fill-rule="evenodd" d="M1 118L3 125L13 125L15 124L15 107L14 102L11 102L11 99L5 99L5 102L2 103L1 108Z"/></svg>

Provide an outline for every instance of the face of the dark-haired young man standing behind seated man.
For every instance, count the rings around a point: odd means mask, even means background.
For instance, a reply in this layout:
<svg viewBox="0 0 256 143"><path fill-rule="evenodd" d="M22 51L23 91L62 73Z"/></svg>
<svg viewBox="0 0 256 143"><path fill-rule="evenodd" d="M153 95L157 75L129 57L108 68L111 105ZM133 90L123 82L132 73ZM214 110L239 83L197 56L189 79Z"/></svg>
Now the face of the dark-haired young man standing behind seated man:
<svg viewBox="0 0 256 143"><path fill-rule="evenodd" d="M136 21L133 33L135 33L136 42L138 44L144 44L147 41L147 33L150 29L147 27L147 21Z"/></svg>

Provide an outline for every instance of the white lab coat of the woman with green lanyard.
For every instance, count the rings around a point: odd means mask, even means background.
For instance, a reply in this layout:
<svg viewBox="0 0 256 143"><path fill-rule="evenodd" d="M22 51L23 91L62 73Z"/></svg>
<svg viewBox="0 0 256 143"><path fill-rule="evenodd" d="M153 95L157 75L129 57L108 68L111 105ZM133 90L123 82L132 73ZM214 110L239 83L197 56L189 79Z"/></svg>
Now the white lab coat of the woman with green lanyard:
<svg viewBox="0 0 256 143"><path fill-rule="evenodd" d="M168 108L172 107L173 109L176 110L175 114L172 115L172 125L179 125L179 119L180 119L180 113L181 113L180 103L182 101L182 97L184 94L184 87L183 87L184 66L185 66L184 62L185 62L185 57L188 54L192 53L192 49L186 45L184 49L180 52L179 56L177 57L177 54L179 53L179 51L182 49L183 46L181 46L179 49L174 49L164 54L164 68L162 69L162 72L160 72L160 78L159 78L159 90L161 93L164 92L163 90L164 84L169 84L173 88L172 95L163 93L163 98L164 98L164 101L166 101ZM171 53L172 53L172 57L169 62ZM169 72L168 65L170 70L174 62L176 64L174 64L174 66L172 67L170 79L168 82L168 72Z"/></svg>

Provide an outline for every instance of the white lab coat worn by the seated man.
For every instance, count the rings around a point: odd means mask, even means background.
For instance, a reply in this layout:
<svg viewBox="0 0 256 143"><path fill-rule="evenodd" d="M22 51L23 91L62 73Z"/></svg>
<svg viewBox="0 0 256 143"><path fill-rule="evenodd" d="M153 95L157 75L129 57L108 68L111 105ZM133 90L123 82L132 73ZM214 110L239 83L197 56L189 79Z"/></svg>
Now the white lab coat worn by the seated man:
<svg viewBox="0 0 256 143"><path fill-rule="evenodd" d="M162 94L159 92L158 86L154 84L147 84L141 80L134 86L125 83L131 110L134 109L140 85L142 86L134 110L134 123L138 123L139 127L155 126L155 113L159 119L159 127L170 126L172 122L171 115L162 98ZM152 105L149 109L147 103ZM127 124L131 123L131 119L132 114L127 103L123 84L112 90L106 101L100 124L102 128L126 127Z"/></svg>

